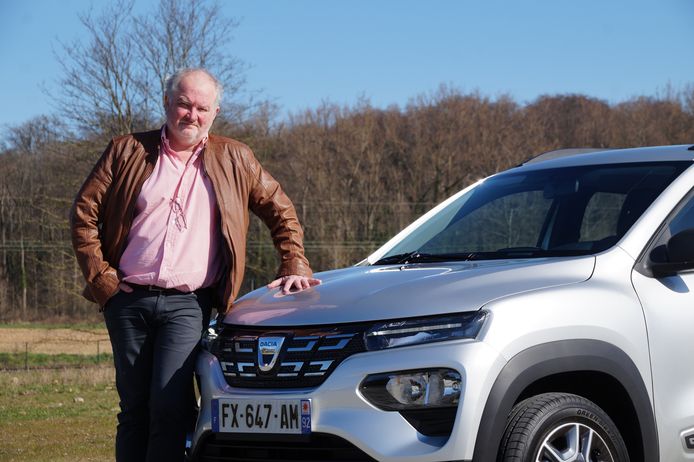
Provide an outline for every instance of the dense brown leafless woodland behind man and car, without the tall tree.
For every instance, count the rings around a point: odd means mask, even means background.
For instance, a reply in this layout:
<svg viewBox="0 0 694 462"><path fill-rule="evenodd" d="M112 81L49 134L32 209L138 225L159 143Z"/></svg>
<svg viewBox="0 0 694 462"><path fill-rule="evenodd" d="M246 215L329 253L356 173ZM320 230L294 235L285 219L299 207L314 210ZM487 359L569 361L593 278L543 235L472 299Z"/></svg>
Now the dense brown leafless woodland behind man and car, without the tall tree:
<svg viewBox="0 0 694 462"><path fill-rule="evenodd" d="M583 95L519 104L441 88L405 107L325 103L277 122L263 111L213 131L239 139L283 185L320 270L365 258L466 185L564 147L694 143L694 91L608 104ZM40 117L9 133L0 153L0 320L93 320L69 241L74 194L106 138L67 137ZM277 261L251 223L243 291L272 279Z"/></svg>

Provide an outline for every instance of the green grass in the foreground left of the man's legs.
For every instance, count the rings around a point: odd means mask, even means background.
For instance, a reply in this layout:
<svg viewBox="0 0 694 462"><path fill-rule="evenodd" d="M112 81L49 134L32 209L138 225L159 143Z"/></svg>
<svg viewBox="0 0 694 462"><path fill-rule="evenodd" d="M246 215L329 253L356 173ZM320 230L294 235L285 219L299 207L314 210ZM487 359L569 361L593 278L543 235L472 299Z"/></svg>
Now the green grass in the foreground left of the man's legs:
<svg viewBox="0 0 694 462"><path fill-rule="evenodd" d="M113 460L113 369L0 372L0 460Z"/></svg>

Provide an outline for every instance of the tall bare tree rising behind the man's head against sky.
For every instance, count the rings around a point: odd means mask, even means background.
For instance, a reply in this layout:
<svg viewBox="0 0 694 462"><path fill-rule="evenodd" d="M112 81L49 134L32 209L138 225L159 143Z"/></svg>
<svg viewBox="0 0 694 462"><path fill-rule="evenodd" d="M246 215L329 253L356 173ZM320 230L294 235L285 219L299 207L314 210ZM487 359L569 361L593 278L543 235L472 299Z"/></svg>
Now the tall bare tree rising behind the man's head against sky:
<svg viewBox="0 0 694 462"><path fill-rule="evenodd" d="M229 54L238 23L213 0L160 0L136 16L134 0L117 0L99 13L80 16L86 41L61 43L61 112L88 135L114 136L151 127L161 119L168 75L206 67L224 84L237 115L244 66Z"/></svg>

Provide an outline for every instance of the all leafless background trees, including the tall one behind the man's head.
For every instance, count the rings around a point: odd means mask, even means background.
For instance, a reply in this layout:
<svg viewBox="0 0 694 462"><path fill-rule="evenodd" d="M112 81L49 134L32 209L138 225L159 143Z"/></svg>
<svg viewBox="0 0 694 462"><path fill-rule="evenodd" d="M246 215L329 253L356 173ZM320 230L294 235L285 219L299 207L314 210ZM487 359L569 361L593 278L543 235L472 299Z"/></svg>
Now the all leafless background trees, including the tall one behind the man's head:
<svg viewBox="0 0 694 462"><path fill-rule="evenodd" d="M281 182L317 271L360 261L454 192L534 154L694 143L694 86L613 104L585 95L521 104L442 86L403 107L360 100L279 117L245 90L245 64L232 54L238 22L220 3L133 6L117 0L80 16L85 38L57 55L60 117L10 127L0 144L0 322L99 319L80 296L68 211L111 137L161 126L164 80L179 68L206 67L224 83L213 131L248 144ZM257 219L247 245L242 292L277 267Z"/></svg>

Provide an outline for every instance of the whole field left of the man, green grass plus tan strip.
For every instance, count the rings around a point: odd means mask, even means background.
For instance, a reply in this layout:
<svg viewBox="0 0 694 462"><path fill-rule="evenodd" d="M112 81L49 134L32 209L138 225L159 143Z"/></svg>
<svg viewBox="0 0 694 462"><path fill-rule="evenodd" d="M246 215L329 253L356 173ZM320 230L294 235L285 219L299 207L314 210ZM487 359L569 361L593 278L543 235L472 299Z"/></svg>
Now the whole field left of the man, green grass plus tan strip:
<svg viewBox="0 0 694 462"><path fill-rule="evenodd" d="M104 337L103 329L0 327L0 365L19 353L19 366L28 359L30 368L0 370L0 461L113 460L118 396L110 345L98 365L93 351ZM27 343L31 352L25 356ZM90 367L38 369L85 361Z"/></svg>

